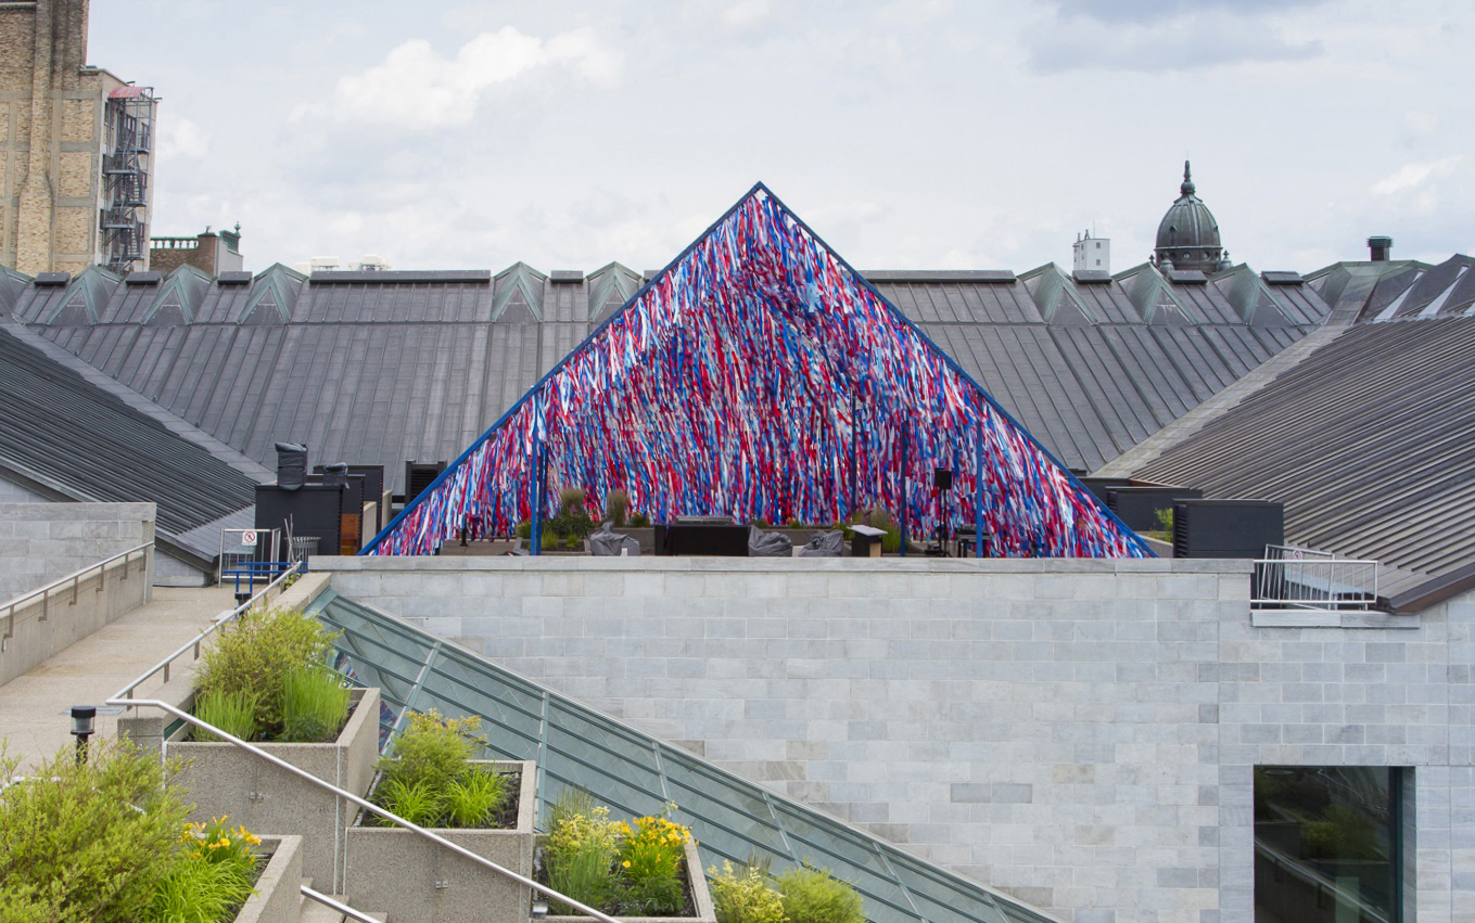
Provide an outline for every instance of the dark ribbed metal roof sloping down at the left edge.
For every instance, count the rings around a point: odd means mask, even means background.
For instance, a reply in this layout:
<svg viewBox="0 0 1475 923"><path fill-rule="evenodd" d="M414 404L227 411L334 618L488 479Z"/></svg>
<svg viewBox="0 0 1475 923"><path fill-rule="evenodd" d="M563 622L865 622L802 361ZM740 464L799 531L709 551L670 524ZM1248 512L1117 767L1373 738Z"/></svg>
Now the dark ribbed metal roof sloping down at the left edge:
<svg viewBox="0 0 1475 923"><path fill-rule="evenodd" d="M255 503L254 481L0 329L0 466L37 472L80 500L158 504L158 531L184 534Z"/></svg>

